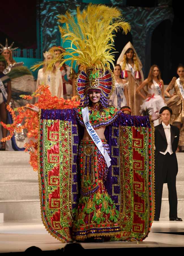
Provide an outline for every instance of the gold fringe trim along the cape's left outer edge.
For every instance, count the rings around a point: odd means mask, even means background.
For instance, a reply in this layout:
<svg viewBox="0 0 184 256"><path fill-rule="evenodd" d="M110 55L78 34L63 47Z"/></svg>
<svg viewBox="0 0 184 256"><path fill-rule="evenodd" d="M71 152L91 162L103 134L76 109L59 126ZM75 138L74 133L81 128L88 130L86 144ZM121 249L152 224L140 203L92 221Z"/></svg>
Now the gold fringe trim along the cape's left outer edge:
<svg viewBox="0 0 184 256"><path fill-rule="evenodd" d="M41 120L41 109L39 110L39 116L38 116L38 141L37 141L37 162L38 162L38 183L39 183L39 195L40 195L40 210L41 210L41 218L42 222L48 231L48 233L56 238L57 240L61 241L61 243L67 243L67 241L63 240L62 238L59 238L58 236L54 235L52 231L48 228L47 223L44 219L43 215L43 208L42 208L42 188L41 188L41 177L40 177L40 120ZM70 240L72 241L72 240Z"/></svg>

